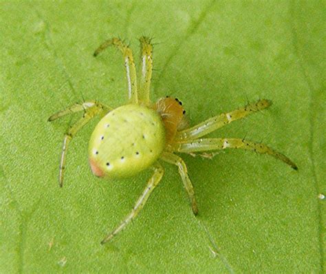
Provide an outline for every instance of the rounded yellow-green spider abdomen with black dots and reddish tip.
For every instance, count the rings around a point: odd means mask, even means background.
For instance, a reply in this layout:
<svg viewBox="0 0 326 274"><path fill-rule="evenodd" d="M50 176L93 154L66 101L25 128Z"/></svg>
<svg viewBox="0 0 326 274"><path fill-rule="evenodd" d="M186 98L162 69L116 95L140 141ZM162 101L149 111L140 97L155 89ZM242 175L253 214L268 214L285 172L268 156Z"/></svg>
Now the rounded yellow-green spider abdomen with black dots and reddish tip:
<svg viewBox="0 0 326 274"><path fill-rule="evenodd" d="M89 140L89 163L96 176L132 176L151 166L165 145L165 129L155 110L140 105L113 109Z"/></svg>

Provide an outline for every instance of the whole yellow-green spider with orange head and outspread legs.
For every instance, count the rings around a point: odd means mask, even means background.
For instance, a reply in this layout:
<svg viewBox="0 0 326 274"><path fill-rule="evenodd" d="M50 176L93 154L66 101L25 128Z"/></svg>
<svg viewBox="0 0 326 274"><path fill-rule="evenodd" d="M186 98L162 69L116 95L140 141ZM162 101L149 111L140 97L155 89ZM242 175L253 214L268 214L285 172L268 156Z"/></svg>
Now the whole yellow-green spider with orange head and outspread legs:
<svg viewBox="0 0 326 274"><path fill-rule="evenodd" d="M131 213L102 240L101 244L112 240L144 207L164 174L161 160L177 166L190 200L191 209L197 215L198 208L193 184L188 177L184 160L177 155L179 153L193 155L219 149L246 149L268 154L282 160L293 169L298 169L292 160L261 143L241 138L202 138L234 120L269 107L271 102L268 100L259 100L232 112L219 114L193 127L188 126L186 111L177 98L166 96L156 103L151 102L149 93L153 45L151 39L145 36L140 38L140 45L139 78L137 78L131 49L120 39L109 39L94 52L94 56L97 56L109 46L114 46L122 52L128 84L128 101L125 105L113 109L96 101L77 103L53 114L48 119L53 121L67 114L84 112L83 117L67 129L63 138L58 177L60 187L63 187L69 142L89 120L96 116L100 116L101 120L91 134L88 149L89 165L95 176L107 179L122 178L134 176L149 167L153 169L153 176L147 182L140 198L135 202Z"/></svg>

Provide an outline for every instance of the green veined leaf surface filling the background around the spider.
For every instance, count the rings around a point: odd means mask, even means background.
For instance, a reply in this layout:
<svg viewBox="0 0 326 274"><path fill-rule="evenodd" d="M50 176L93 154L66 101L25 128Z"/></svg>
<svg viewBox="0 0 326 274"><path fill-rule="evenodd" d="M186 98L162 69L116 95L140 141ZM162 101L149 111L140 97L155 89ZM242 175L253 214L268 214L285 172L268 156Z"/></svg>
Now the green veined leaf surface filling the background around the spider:
<svg viewBox="0 0 326 274"><path fill-rule="evenodd" d="M325 1L1 1L0 14L1 273L325 272ZM137 57L143 34L155 43L151 98L176 96L192 125L268 98L270 109L211 136L263 140L299 170L249 151L184 156L197 218L164 165L139 217L102 246L151 172L92 176L94 121L72 141L59 188L78 115L47 118L83 98L126 102L120 53L92 54L120 36Z"/></svg>

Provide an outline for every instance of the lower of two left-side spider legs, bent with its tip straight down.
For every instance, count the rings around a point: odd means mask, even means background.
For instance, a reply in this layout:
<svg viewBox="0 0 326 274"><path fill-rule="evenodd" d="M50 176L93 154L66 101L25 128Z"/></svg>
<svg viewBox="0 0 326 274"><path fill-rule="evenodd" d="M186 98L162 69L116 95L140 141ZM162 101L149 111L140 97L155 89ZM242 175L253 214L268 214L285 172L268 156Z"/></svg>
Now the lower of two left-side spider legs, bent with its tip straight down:
<svg viewBox="0 0 326 274"><path fill-rule="evenodd" d="M99 105L94 105L93 107L89 107L85 109L85 114L82 118L80 118L74 125L69 127L69 129L65 133L65 137L63 138L63 149L61 152L60 166L59 166L59 185L63 187L63 175L65 171L65 162L67 156L67 149L72 138L77 134L77 132L86 125L92 118L97 116L98 114L105 113L104 109Z"/></svg>

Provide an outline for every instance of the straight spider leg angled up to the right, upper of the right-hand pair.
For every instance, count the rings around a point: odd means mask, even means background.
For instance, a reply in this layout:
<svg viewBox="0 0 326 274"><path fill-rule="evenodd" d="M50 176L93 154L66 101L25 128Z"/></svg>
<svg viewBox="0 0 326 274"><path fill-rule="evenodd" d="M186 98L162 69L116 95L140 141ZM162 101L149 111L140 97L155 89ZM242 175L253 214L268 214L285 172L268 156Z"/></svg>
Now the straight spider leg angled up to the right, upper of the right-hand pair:
<svg viewBox="0 0 326 274"><path fill-rule="evenodd" d="M177 136L175 137L175 141L188 141L200 138L212 131L215 131L216 129L219 129L220 127L224 127L224 125L227 125L234 120L239 120L248 116L249 114L258 112L261 109L265 109L271 104L271 101L263 99L259 100L257 103L252 103L246 105L246 107L241 107L239 109L233 110L232 112L209 118L208 120L205 120L204 122L199 123L194 127L178 132Z"/></svg>

